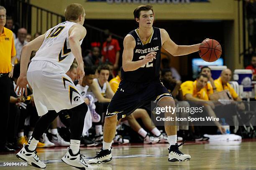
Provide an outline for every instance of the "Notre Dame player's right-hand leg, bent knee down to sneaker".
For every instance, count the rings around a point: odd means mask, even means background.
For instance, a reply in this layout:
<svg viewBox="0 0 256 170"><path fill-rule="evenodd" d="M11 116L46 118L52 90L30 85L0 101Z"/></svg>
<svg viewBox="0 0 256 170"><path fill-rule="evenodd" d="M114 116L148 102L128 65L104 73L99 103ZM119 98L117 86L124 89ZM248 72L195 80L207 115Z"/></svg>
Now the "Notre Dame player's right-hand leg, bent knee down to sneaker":
<svg viewBox="0 0 256 170"><path fill-rule="evenodd" d="M174 108L175 102L172 97L162 97L159 102L158 102L158 107L171 107ZM164 114L165 117L176 117L176 112L165 112ZM172 121L171 123L169 121L164 122L164 128L168 136L168 141L169 141L169 162L184 162L190 160L190 155L185 155L181 151L179 151L179 146L181 145L177 144L177 126L176 122Z"/></svg>

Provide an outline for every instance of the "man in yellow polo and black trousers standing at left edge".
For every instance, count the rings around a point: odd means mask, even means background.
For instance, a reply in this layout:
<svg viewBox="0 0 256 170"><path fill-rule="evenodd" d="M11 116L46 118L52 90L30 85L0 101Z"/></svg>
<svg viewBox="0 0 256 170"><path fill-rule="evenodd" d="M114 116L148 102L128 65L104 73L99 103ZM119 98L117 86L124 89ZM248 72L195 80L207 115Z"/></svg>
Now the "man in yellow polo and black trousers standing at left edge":
<svg viewBox="0 0 256 170"><path fill-rule="evenodd" d="M7 146L7 127L10 103L10 77L13 77L13 66L16 50L13 32L4 27L6 9L0 6L0 152L15 152Z"/></svg>

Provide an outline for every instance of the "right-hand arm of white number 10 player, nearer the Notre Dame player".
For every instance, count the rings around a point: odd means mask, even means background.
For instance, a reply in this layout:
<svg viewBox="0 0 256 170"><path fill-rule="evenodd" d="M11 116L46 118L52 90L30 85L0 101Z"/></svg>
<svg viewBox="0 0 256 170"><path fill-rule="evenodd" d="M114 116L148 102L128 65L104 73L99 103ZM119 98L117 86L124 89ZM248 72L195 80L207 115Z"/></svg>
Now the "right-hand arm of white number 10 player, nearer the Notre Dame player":
<svg viewBox="0 0 256 170"><path fill-rule="evenodd" d="M84 62L82 59L82 50L80 46L80 40L82 40L86 35L86 29L79 24L73 25L69 29L69 45L70 49L77 60L77 75L76 79L79 80L79 85L82 84L82 80L84 77Z"/></svg>

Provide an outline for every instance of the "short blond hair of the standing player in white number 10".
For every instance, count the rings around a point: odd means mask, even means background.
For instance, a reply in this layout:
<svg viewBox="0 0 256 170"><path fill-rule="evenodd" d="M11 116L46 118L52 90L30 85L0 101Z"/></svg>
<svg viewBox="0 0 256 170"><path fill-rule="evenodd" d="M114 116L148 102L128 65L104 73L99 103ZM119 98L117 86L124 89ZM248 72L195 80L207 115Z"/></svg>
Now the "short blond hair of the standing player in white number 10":
<svg viewBox="0 0 256 170"><path fill-rule="evenodd" d="M64 13L66 21L77 20L79 15L84 14L84 7L81 4L72 3L66 7Z"/></svg>

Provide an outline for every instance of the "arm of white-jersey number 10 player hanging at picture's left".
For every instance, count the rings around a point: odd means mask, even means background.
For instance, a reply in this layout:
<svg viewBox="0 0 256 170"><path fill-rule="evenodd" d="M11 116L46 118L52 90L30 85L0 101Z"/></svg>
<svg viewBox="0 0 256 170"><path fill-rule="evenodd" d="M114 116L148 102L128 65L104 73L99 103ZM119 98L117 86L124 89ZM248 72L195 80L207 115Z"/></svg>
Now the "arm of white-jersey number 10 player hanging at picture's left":
<svg viewBox="0 0 256 170"><path fill-rule="evenodd" d="M28 44L24 45L21 51L20 55L20 76L17 80L17 85L15 87L15 91L18 88L18 94L23 96L23 91L25 91L25 95L27 95L27 71L28 71L28 61L31 56L31 52L34 50L38 50L42 43L44 42L44 36L40 35L36 39L34 39L31 42L28 42ZM21 92L21 93L20 93Z"/></svg>

